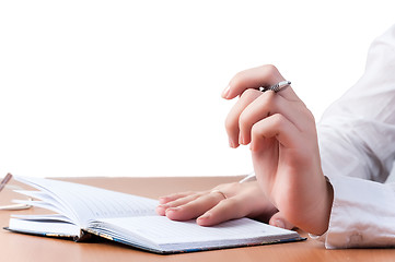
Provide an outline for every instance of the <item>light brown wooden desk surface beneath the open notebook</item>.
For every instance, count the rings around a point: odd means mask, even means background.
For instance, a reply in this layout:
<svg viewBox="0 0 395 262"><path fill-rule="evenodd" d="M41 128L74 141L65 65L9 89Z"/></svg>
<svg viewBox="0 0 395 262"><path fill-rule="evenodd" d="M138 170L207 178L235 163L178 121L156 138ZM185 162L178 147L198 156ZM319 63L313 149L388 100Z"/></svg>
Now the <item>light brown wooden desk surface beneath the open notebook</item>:
<svg viewBox="0 0 395 262"><path fill-rule="evenodd" d="M184 191L202 190L218 183L236 181L239 177L210 178L68 178L63 180L92 184L143 196ZM12 198L0 193L0 199ZM39 214L39 209L8 212L0 211L0 226L7 226L10 214ZM301 234L305 236L305 234ZM160 255L112 242L75 243L36 236L0 230L1 261L394 261L395 249L325 250L323 243L306 241L269 245L249 248L225 249L196 253Z"/></svg>

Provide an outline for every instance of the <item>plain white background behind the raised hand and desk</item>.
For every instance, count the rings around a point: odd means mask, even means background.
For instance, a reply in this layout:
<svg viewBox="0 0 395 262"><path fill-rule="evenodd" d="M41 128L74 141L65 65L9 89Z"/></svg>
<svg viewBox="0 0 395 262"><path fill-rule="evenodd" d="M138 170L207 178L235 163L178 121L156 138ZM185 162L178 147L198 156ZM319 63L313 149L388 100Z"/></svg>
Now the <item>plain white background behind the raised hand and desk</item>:
<svg viewBox="0 0 395 262"><path fill-rule="evenodd" d="M239 71L276 64L320 119L393 0L1 1L0 177L252 170L223 128Z"/></svg>

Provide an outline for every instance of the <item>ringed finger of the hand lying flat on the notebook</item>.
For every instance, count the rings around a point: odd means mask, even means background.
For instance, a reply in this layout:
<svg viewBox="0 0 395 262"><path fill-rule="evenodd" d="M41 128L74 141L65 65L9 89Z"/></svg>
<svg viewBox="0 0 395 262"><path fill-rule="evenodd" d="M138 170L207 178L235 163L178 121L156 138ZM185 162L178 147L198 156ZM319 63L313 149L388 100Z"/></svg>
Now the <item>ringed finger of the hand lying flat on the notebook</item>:
<svg viewBox="0 0 395 262"><path fill-rule="evenodd" d="M194 201L185 203L184 205L167 209L166 216L173 221L189 221L200 216L208 210L211 210L223 200L224 199L221 193L212 192L205 194Z"/></svg>

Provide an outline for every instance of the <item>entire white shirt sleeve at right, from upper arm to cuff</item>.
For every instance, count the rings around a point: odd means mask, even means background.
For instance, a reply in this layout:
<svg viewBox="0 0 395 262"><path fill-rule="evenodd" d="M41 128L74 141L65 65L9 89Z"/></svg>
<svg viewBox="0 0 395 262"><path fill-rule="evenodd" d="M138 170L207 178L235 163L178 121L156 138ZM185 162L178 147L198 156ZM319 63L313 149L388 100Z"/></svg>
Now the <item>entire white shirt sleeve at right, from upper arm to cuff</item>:
<svg viewBox="0 0 395 262"><path fill-rule="evenodd" d="M317 127L334 188L326 248L395 246L395 25L372 44L362 78ZM390 180L390 179L388 179Z"/></svg>

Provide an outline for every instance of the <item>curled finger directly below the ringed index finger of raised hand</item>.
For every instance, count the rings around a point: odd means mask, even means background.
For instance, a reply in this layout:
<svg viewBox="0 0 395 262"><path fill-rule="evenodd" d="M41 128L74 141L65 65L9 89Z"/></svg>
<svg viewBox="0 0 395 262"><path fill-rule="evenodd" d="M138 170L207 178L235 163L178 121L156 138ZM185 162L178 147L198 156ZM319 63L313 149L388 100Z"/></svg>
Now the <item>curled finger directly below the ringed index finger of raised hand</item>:
<svg viewBox="0 0 395 262"><path fill-rule="evenodd" d="M239 118L243 110L257 97L263 95L260 91L248 90L243 93L237 103L233 106L231 111L228 114L225 120L225 129L229 138L229 145L233 148L239 146L240 143L240 129L239 129Z"/></svg>

